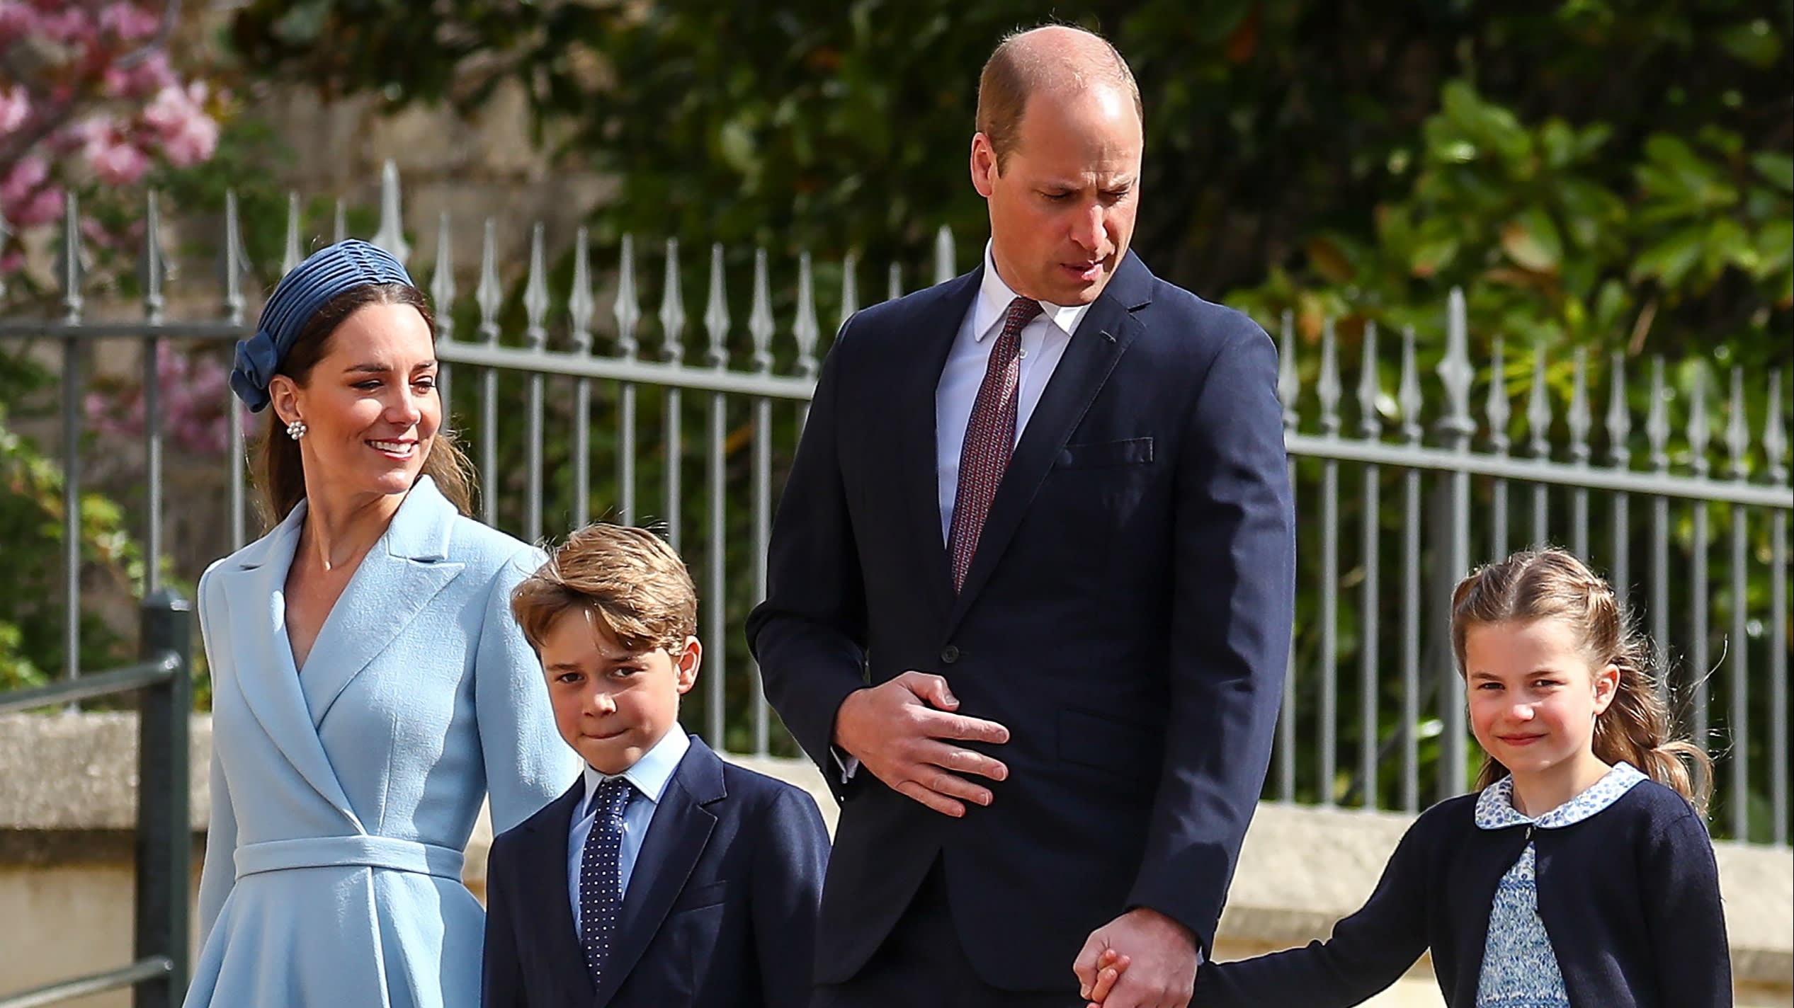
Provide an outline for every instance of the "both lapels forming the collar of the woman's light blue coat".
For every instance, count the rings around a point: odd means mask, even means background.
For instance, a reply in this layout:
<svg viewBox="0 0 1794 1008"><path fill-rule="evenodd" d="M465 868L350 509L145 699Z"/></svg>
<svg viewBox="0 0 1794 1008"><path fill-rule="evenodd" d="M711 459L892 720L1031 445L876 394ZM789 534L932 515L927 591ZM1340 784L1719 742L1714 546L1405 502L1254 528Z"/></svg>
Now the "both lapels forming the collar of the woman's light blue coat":
<svg viewBox="0 0 1794 1008"><path fill-rule="evenodd" d="M285 585L307 508L244 547L221 574L231 612L237 678L257 721L301 777L361 830L318 728L368 664L461 572L443 560L456 509L429 477L398 506L337 597L305 660L287 637Z"/></svg>

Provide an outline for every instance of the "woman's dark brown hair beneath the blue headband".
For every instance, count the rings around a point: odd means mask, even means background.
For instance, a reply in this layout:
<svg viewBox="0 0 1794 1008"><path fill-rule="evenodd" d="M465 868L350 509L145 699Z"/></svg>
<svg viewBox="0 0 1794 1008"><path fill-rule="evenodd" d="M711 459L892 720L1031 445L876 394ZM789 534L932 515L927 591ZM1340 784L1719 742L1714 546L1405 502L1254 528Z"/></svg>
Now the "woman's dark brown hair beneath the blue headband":
<svg viewBox="0 0 1794 1008"><path fill-rule="evenodd" d="M330 301L305 321L305 328L292 341L292 348L274 369L305 386L318 366L330 352L330 337L337 326L368 305L411 305L423 316L423 325L431 326L431 339L436 339L436 316L431 314L423 292L409 283L364 283L352 287ZM285 425L273 409L267 411L267 432L255 459L257 486L262 491L262 518L269 527L278 526L305 500L305 463L300 456L300 443L285 436ZM448 404L443 404L443 423L436 430L431 452L423 457L423 472L436 481L436 490L448 499L463 515L474 513L474 466L468 463L461 445L456 443L448 427Z"/></svg>

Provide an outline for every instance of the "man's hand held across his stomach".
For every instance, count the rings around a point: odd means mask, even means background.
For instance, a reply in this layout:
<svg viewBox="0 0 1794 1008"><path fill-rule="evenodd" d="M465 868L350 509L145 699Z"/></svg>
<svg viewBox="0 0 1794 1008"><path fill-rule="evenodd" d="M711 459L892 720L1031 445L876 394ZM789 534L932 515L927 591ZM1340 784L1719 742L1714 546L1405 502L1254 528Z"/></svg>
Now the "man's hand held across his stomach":
<svg viewBox="0 0 1794 1008"><path fill-rule="evenodd" d="M1008 768L953 743L1001 744L1008 741L1008 728L953 714L958 707L947 680L904 673L847 694L834 714L834 744L899 795L936 812L963 816L965 802L988 805L990 791L960 773L1003 780Z"/></svg>

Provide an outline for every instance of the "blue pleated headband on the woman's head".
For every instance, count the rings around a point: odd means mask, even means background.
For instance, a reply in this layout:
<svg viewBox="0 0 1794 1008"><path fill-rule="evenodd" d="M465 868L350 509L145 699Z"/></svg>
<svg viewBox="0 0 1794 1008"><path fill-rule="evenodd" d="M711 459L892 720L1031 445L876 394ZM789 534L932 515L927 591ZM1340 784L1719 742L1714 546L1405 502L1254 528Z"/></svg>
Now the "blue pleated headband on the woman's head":
<svg viewBox="0 0 1794 1008"><path fill-rule="evenodd" d="M237 343L237 364L230 371L230 387L237 398L251 413L267 409L267 382L292 350L292 341L300 337L305 323L337 294L370 283L416 287L404 264L380 246L361 239L325 246L282 276L262 305L255 335Z"/></svg>

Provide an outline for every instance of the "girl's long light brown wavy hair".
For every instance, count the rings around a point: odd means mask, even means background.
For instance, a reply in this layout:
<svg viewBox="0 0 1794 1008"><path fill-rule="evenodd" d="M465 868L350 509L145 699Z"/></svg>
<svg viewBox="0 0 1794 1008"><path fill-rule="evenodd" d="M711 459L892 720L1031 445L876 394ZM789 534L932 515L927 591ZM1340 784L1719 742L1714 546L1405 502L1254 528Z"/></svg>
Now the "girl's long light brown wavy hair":
<svg viewBox="0 0 1794 1008"><path fill-rule="evenodd" d="M1595 719L1595 755L1607 764L1633 764L1704 812L1713 764L1701 746L1670 735L1670 712L1650 667L1650 642L1638 633L1613 587L1570 552L1555 547L1521 551L1459 581L1451 592L1451 651L1459 674L1464 674L1464 637L1473 626L1537 619L1573 626L1591 667L1620 669L1613 701ZM1476 787L1505 775L1507 768L1485 755Z"/></svg>

